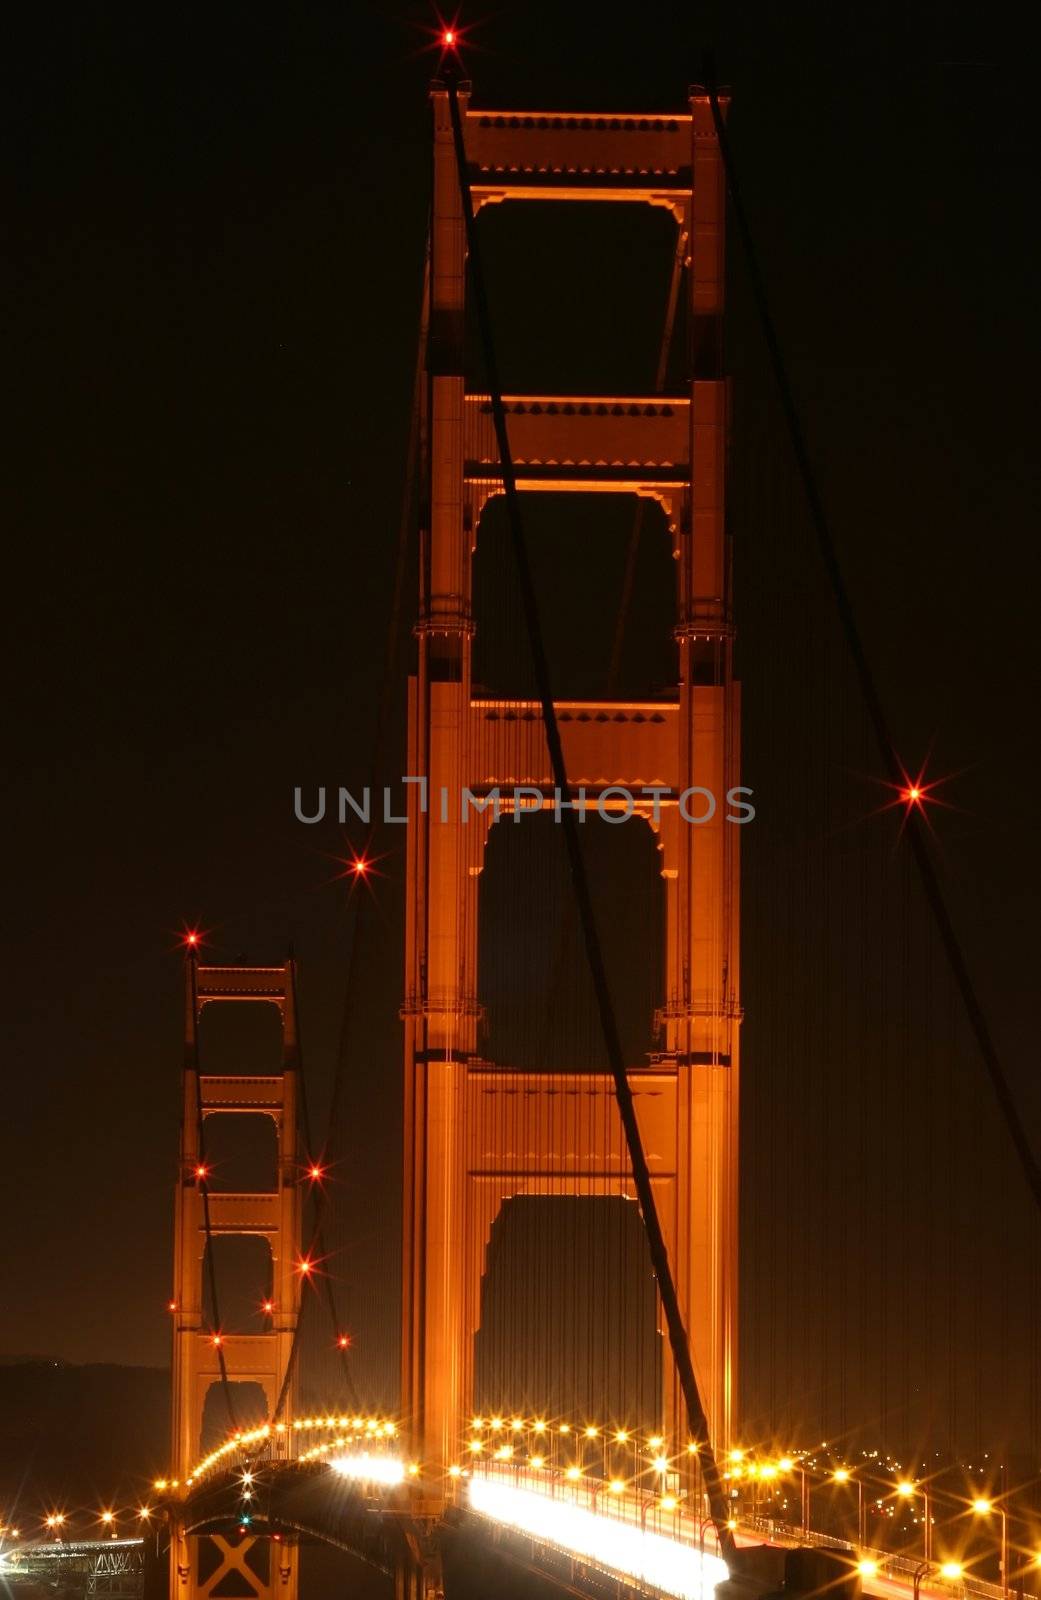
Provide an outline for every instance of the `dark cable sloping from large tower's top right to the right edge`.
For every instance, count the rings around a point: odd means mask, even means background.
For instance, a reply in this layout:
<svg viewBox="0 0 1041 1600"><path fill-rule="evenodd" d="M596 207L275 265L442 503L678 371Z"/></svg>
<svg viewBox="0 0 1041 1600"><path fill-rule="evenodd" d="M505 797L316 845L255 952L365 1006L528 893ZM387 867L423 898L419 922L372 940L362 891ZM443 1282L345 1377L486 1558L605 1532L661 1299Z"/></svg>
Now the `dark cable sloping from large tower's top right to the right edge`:
<svg viewBox="0 0 1041 1600"><path fill-rule="evenodd" d="M846 635L846 645L852 658L852 664L860 685L860 693L864 694L864 704L867 707L868 720L871 723L875 741L883 760L884 770L889 773L889 781L897 789L907 787L907 774L897 755L897 747L892 739L889 728L889 718L886 717L886 709L875 682L875 674L871 670L871 662L868 659L864 638L860 637L860 629L857 627L856 613L852 608L852 600L846 587L846 579L843 576L843 568L838 558L838 550L835 539L832 536L832 528L828 523L827 512L824 509L824 501L820 491L817 490L817 480L814 477L814 469L809 459L809 448L806 445L806 435L803 432L803 422L800 418L798 406L795 403L795 394L792 382L788 379L788 370L780 349L780 341L777 338L777 328L771 312L769 296L766 293L766 280L763 277L763 269L760 266L758 251L755 248L755 235L748 222L748 213L745 211L744 198L740 194L740 184L737 176L737 166L734 162L734 152L731 149L726 123L723 122L723 114L720 110L720 94L715 77L715 64L712 54L705 54L705 86L708 93L708 104L712 106L712 120L715 122L716 139L720 142L720 155L723 158L723 168L726 171L726 184L731 195L731 205L734 208L734 219L737 222L737 232L740 235L740 243L745 253L745 264L748 267L748 282L752 285L752 298L755 299L756 312L760 317L760 326L763 330L763 339L766 342L769 363L774 373L774 381L777 384L777 392L780 397L780 406L785 414L785 422L788 426L788 437L792 442L792 453L795 454L795 462L798 467L800 478L803 482L803 493L806 496L806 506L809 509L809 517L814 525L814 533L817 536L817 547L820 550L820 558L824 562L828 582L832 586L832 595L835 598L835 608L840 616L843 634ZM1015 1155L1019 1157L1020 1170L1027 1179L1027 1187L1033 1195L1033 1202L1041 1211L1041 1166L1030 1144L1027 1128L1020 1117L1015 1098L1009 1086L1001 1058L990 1032L990 1024L980 1005L969 966L961 949L961 941L955 930L951 914L943 898L943 890L940 888L940 880L932 864L929 848L926 843L924 826L921 816L915 805L908 808L905 819L907 834L911 843L911 854L915 858L915 867L918 870L918 880L921 883L926 902L932 914L932 922L940 936L940 944L947 957L951 976L961 995L961 1003L975 1038L979 1053L983 1059L987 1075L990 1078L995 1099L998 1101L998 1109L1004 1120L1006 1131L1012 1141Z"/></svg>

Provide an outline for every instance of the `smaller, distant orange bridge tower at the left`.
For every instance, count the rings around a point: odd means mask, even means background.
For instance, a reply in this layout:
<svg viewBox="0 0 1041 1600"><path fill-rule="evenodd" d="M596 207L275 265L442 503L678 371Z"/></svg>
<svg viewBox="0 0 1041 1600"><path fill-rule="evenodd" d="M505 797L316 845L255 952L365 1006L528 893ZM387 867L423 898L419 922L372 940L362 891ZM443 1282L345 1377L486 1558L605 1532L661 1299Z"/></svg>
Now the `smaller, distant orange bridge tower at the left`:
<svg viewBox="0 0 1041 1600"><path fill-rule="evenodd" d="M184 963L184 1109L181 1168L174 1203L173 1286L173 1477L185 1485L201 1456L206 1395L222 1384L253 1382L264 1390L273 1416L289 1366L301 1307L301 1168L297 1149L297 1024L294 965L205 966L195 950ZM198 1051L203 1008L227 1002L264 1002L281 1018L281 1072L209 1075ZM230 1112L270 1117L278 1139L277 1186L270 1192L230 1194L208 1184L203 1126ZM206 1211L209 1229L206 1229ZM272 1254L270 1301L264 1333L224 1333L206 1323L206 1234L254 1234ZM216 1339L219 1338L219 1344ZM224 1368L222 1368L224 1363ZM286 1411L293 1414L289 1392ZM190 1536L184 1518L171 1522L171 1600L294 1600L296 1550L288 1542Z"/></svg>

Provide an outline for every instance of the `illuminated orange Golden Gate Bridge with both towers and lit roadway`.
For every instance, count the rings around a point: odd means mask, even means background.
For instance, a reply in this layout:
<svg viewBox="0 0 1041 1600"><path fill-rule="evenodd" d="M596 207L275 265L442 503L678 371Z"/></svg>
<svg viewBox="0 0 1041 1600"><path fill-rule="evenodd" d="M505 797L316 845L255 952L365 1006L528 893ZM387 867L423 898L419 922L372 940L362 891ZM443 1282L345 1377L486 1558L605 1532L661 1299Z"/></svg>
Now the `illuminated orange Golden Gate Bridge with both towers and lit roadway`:
<svg viewBox="0 0 1041 1600"><path fill-rule="evenodd" d="M408 690L414 776L405 784L400 1397L387 1410L363 1405L325 1270L329 1163L312 1155L305 1126L296 965L208 963L190 934L170 1469L134 1512L139 1541L72 1541L61 1518L43 1542L0 1530L5 1570L64 1562L86 1592L123 1594L138 1576L133 1549L149 1595L293 1600L301 1541L318 1539L387 1573L416 1600L451 1594L459 1549L472 1563L491 1549L505 1563L499 1573L588 1595L702 1595L718 1586L723 1595L827 1587L915 1600L923 1589L985 1600L1022 1592L1036 1557L1030 1517L1009 1496L958 1494L939 1475L876 1451L750 1445L739 1424L740 816L718 802L752 790L740 784L724 493L726 99L692 90L683 114L660 115L502 112L473 109L469 85L446 75L432 106L419 608ZM475 219L485 208L561 202L649 206L675 222L652 392L502 394ZM467 378L472 312L478 387ZM680 312L683 386L667 384ZM633 549L646 509L660 518L676 595L667 696L553 698L518 520L518 496L536 494L635 498ZM488 538L496 502L512 518L520 576L481 626L529 650L524 691L512 696L475 674L478 538ZM916 840L927 786L891 776ZM611 931L601 939L582 848L593 818L609 829L633 822L660 883L656 1048L643 1059L627 1053L614 1013ZM531 862L518 842L536 832L552 832L545 843L568 867L564 891L540 883L536 904L542 926L588 957L601 1030L595 1066L579 1059L588 1040L574 1022L563 1056L540 1053L544 1018L532 1024L536 1048L520 1051L529 1059L485 1053L481 990L502 979L502 962L496 971L483 952L481 878L499 851L520 894ZM355 875L365 878L371 862L357 854ZM206 1070L200 1024L229 1003L277 1010L278 1072ZM221 1187L206 1134L222 1117L273 1125L270 1189ZM325 1150L344 1138L333 1126ZM576 1202L580 1224L566 1211ZM534 1221L518 1246L513 1298L496 1312L486 1282L507 1213ZM214 1242L225 1237L265 1242L259 1333L221 1318ZM561 1384L550 1368L574 1328L545 1262L555 1250L592 1259L601 1248L595 1280L622 1285L633 1304L643 1296L652 1338L638 1304L632 1315L617 1304L587 1309L588 1350L580 1378L571 1366L569 1398L568 1378ZM510 1325L523 1322L523 1299L539 1296L555 1326L524 1354ZM596 1325L601 1309L612 1326ZM334 1366L326 1362L317 1382L301 1333L318 1315ZM245 1386L262 1397L259 1411L256 1400L249 1414L241 1410ZM214 1395L225 1416L219 1440ZM980 1549L996 1581L980 1574Z"/></svg>

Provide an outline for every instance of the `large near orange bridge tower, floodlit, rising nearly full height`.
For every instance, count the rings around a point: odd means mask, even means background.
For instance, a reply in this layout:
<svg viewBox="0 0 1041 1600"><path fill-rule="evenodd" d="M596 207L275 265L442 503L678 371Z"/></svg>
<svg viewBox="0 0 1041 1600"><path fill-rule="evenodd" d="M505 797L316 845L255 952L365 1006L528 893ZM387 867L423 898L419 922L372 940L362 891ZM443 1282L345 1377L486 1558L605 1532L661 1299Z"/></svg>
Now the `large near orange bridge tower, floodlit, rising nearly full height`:
<svg viewBox="0 0 1041 1600"><path fill-rule="evenodd" d="M411 784L408 802L403 1406L433 1482L438 1466L461 1459L480 1282L504 1200L632 1197L632 1182L617 1120L611 1147L598 1147L614 1115L606 1075L576 1077L564 1112L560 1074L540 1078L483 1062L478 1053L483 845L493 826L509 824L513 786L536 789L550 806L553 779L544 749L521 766L517 741L509 742L507 723L537 722L537 706L491 702L472 685L472 557L481 510L502 483L488 397L467 392L464 378L465 230L448 91L435 83L432 99L427 510L408 768L427 787ZM699 90L684 114L640 117L473 110L467 86L459 99L475 208L550 200L662 206L688 256L681 392L507 395L505 410L523 491L648 496L662 506L673 541L675 694L646 706L568 702L558 714L572 794L584 786L592 808L608 784L627 786L657 834L667 902L662 1048L633 1062L630 1082L713 1443L726 1446L736 1371L740 830L724 821L724 797L739 784L739 709L724 539L720 147ZM464 786L480 795L499 790L502 819L489 810L464 819ZM646 786L660 790L657 803L640 800ZM707 810L704 798L686 795L694 786L716 797L715 816L700 826L688 819ZM481 1126L494 1125L488 1106L505 1096L510 1115L497 1125L509 1138L481 1147L478 1170L469 1130L481 1107ZM564 1115L584 1118L582 1130L566 1136ZM672 1438L686 1438L670 1371L665 1413ZM430 1491L432 1510L437 1494Z"/></svg>

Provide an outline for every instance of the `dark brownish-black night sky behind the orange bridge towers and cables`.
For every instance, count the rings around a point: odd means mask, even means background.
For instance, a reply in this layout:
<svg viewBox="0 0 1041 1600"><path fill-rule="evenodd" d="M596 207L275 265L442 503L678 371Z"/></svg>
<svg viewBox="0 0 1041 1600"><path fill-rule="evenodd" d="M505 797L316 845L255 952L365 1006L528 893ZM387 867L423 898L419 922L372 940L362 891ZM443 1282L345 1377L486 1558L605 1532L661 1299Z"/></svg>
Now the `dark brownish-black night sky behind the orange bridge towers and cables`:
<svg viewBox="0 0 1041 1600"><path fill-rule="evenodd" d="M702 48L715 48L782 342L897 738L910 765L931 750L931 773L961 774L947 790L958 811L935 819L939 859L1041 1141L1038 149L1019 8L524 0L462 21L477 106L683 109ZM437 16L350 3L86 6L22 24L5 51L0 251L0 1352L165 1365L179 930L208 930L219 960L280 960L293 942L317 1125L329 1093L353 912L336 882L336 830L299 826L291 802L294 784L368 773ZM624 291L604 282L596 251L584 258L572 240L579 278L558 285L556 258L512 248L491 261L507 387L536 376L564 387L582 362L593 387L624 381L608 341L633 371L644 326L619 317ZM752 483L784 442L763 421L769 402L748 403L768 382L737 262L732 306L732 365L747 374L736 450ZM790 470L776 470L796 496ZM777 608L790 598L780 586L809 546L785 555L774 542L758 563L756 530L737 520L734 533L740 670L776 682ZM587 576L574 554L564 560L579 592ZM596 582L609 603L614 579ZM806 589L824 595L817 576ZM792 760L803 747L820 757L819 704L809 694L803 712L788 709ZM755 706L745 771L769 813L782 741L763 696ZM828 726L843 717L860 717L854 701L828 702ZM832 770L848 781L848 765ZM790 797L800 774L787 782ZM849 811L879 803L864 784ZM760 882L776 837L752 850ZM374 1294L393 1242L400 1117L400 862L384 867L357 1152L337 1179L349 1211L365 1211L358 1253ZM812 974L780 971L777 904L756 883L747 893L748 971L772 982L764 1005L777 1018ZM755 1005L747 992L750 1014ZM766 1072L769 1053L758 1059ZM995 1150L982 1179L991 1192L1007 1165ZM397 1293L397 1259L382 1266Z"/></svg>

